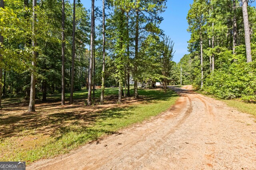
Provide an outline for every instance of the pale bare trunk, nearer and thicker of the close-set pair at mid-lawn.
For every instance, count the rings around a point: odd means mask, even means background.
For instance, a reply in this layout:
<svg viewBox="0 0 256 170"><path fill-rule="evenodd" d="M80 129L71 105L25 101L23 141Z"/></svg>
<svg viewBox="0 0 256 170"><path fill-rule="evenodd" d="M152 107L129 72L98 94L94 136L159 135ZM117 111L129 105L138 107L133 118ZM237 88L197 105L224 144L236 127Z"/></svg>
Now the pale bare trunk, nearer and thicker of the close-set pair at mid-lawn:
<svg viewBox="0 0 256 170"><path fill-rule="evenodd" d="M92 0L92 14L91 14L91 42L90 42L90 66L89 66L89 80L88 80L88 100L87 105L92 105L92 59L93 59L93 29L94 29L94 0Z"/></svg>

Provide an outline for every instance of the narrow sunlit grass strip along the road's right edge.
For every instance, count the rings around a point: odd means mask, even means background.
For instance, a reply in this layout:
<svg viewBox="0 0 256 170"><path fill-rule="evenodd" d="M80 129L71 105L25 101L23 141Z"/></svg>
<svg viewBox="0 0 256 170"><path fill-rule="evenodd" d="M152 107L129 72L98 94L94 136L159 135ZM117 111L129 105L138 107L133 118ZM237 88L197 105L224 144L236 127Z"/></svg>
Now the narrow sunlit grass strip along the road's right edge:
<svg viewBox="0 0 256 170"><path fill-rule="evenodd" d="M208 94L206 94L206 92L201 91L201 90L196 90L196 92L203 94L205 96L214 98L216 100L220 100L220 101L226 103L228 106L234 107L241 112L256 116L256 103L244 102L242 100L223 100L223 99L217 98L216 96L208 95Z"/></svg>

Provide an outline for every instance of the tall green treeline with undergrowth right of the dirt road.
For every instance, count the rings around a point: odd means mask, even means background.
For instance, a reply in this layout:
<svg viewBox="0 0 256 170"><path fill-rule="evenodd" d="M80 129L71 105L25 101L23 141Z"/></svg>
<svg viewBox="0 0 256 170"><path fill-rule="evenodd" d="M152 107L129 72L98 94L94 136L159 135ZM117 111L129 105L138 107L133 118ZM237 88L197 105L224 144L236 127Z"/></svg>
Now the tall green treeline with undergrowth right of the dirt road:
<svg viewBox="0 0 256 170"><path fill-rule="evenodd" d="M256 9L247 0L194 0L184 84L220 98L256 100Z"/></svg>

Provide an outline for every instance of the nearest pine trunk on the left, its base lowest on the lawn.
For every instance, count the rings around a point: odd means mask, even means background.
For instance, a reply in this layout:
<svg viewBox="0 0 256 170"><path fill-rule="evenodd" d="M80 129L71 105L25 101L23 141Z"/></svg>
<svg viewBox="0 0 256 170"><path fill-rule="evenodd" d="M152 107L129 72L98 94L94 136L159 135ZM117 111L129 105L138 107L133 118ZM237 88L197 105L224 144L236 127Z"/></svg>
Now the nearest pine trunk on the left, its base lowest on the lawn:
<svg viewBox="0 0 256 170"><path fill-rule="evenodd" d="M33 13L32 13L32 72L31 72L31 81L30 81L30 101L28 106L28 112L35 111L35 98L36 98L36 58L37 52L34 50L36 47L36 37L35 37L35 24L36 24L36 0L33 0Z"/></svg>

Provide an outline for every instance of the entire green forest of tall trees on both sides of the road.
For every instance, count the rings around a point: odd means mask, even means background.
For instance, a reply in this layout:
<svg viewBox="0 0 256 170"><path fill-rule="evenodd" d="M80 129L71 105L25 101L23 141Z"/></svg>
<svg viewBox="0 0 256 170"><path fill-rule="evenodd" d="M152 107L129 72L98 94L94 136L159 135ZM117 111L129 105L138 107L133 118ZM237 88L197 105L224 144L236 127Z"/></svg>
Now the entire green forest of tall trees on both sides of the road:
<svg viewBox="0 0 256 170"><path fill-rule="evenodd" d="M180 76L181 84L220 98L256 100L252 1L194 0L187 17L190 54L177 64L174 42L159 27L166 0L103 0L102 8L92 0L92 10L80 1L0 2L0 106L1 98L22 97L35 111L36 99L60 93L65 105L67 92L72 104L82 88L87 105L94 104L95 88L103 104L105 87L119 87L121 103L139 97L137 82L149 88L162 82L166 91Z"/></svg>

